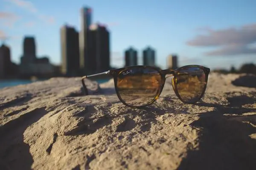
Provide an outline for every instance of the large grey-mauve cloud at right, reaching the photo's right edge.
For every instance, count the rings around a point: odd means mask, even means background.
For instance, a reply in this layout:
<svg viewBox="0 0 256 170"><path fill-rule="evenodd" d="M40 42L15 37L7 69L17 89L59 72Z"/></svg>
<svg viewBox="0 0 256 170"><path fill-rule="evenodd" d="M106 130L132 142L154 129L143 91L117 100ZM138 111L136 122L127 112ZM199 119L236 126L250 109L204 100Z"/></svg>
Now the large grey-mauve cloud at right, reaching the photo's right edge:
<svg viewBox="0 0 256 170"><path fill-rule="evenodd" d="M249 46L256 42L256 23L241 28L227 28L213 30L200 28L206 34L198 35L186 42L190 46L215 47L214 51L206 53L208 56L230 56L238 54L256 54L256 48Z"/></svg>

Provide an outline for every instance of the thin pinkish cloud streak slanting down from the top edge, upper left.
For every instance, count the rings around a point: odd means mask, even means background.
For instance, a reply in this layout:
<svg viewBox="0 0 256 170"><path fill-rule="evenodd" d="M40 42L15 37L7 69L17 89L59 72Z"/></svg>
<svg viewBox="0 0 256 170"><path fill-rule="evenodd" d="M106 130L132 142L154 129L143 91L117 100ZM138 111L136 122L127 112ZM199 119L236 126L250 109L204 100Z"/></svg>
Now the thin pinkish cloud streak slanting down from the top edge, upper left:
<svg viewBox="0 0 256 170"><path fill-rule="evenodd" d="M55 23L55 19L52 16L41 14L38 8L28 0L6 0L7 2L17 6L18 8L22 8L25 11L28 11L35 15L39 20L44 21L47 24Z"/></svg>

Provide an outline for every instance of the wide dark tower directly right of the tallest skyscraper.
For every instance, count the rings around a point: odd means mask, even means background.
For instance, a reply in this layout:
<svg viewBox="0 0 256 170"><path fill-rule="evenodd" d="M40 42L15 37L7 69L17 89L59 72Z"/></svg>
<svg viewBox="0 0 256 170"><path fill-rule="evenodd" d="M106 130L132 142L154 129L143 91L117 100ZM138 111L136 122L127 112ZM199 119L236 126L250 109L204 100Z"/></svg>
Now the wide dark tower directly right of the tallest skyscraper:
<svg viewBox="0 0 256 170"><path fill-rule="evenodd" d="M107 28L99 23L91 25L88 32L88 74L110 69L110 36Z"/></svg>

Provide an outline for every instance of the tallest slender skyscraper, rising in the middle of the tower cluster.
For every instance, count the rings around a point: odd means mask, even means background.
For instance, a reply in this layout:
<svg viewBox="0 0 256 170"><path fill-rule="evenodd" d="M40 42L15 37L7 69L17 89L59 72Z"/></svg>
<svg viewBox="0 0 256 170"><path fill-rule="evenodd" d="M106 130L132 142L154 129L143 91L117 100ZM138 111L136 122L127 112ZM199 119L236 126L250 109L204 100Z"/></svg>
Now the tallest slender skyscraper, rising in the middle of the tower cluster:
<svg viewBox="0 0 256 170"><path fill-rule="evenodd" d="M79 33L79 56L80 68L86 72L90 65L87 61L88 31L92 21L92 9L88 7L81 8L81 31Z"/></svg>

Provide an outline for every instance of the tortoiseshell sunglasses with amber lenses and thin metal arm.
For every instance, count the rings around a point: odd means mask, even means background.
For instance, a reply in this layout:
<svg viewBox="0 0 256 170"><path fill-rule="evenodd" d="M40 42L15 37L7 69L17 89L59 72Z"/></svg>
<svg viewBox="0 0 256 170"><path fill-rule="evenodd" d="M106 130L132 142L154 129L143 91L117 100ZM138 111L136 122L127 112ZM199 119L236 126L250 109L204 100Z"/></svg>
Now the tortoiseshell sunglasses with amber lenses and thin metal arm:
<svg viewBox="0 0 256 170"><path fill-rule="evenodd" d="M184 103L193 104L204 95L209 72L209 68L201 65L186 65L175 70L136 65L84 76L82 85L85 95L88 95L84 79L111 75L119 100L128 107L140 108L153 104L163 91L166 78L172 76L172 87L177 97Z"/></svg>

